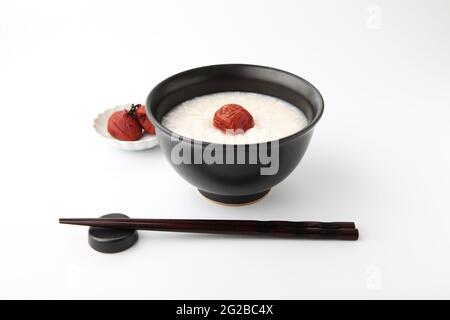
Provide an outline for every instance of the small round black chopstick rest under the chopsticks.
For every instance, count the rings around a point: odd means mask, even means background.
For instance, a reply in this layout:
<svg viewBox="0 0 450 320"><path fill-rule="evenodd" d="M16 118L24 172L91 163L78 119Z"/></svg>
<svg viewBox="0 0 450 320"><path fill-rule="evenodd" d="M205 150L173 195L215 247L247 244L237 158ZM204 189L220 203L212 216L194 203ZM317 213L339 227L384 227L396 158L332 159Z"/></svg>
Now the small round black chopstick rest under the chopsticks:
<svg viewBox="0 0 450 320"><path fill-rule="evenodd" d="M121 213L111 213L101 218L123 218L128 216ZM133 229L112 229L101 227L89 227L89 245L102 253L116 253L132 247L138 240L138 233Z"/></svg>

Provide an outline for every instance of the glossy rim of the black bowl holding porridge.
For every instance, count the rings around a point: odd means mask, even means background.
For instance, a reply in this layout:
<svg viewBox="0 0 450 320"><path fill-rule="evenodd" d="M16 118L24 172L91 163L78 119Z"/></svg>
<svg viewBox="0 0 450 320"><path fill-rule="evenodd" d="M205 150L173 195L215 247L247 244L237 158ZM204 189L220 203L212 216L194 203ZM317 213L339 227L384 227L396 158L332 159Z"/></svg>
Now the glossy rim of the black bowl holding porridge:
<svg viewBox="0 0 450 320"><path fill-rule="evenodd" d="M241 63L231 63L231 64L213 64L213 65L208 65L208 66L202 66L202 67L197 67L197 68L192 68L189 70L185 70L179 73L176 73L168 78L166 78L165 80L161 81L160 83L158 83L153 89L152 91L150 91L148 97L147 97L147 101L151 100L152 95L154 94L154 91L158 90L160 87L164 86L167 82L172 81L173 79L176 79L178 77L184 76L186 73L190 73L193 71L203 71L203 70L207 70L210 68L215 68L215 67L256 67L256 68L261 68L261 69L269 69L269 70L274 70L274 71L278 71L278 72L282 72L285 73L287 75L290 75L294 78L297 78L300 81L303 81L307 86L309 86L313 91L315 91L320 99L320 103L317 106L317 113L315 114L314 118L311 120L311 122L308 123L308 125L306 127L304 127L302 130L297 131L289 136L283 137L281 139L279 139L279 143L285 143L288 141L291 141L299 136L302 136L306 133L308 133L309 131L311 131L315 125L317 124L317 122L319 122L319 120L322 118L323 115L323 111L324 111L324 100L323 97L320 93L320 91L314 86L312 85L308 80L303 79L302 77L299 77L298 75L285 71L285 70L281 70L281 69L277 69L277 68L273 68L273 67L267 67L267 66L261 66L261 65L254 65L254 64L241 64ZM279 98L282 99L282 98ZM196 139L192 139L189 137L184 137L176 132L173 132L172 130L170 130L169 128L163 126L154 116L152 112L149 112L150 110L150 106L148 106L148 103L146 103L146 111L147 111L147 115L150 118L150 121L153 123L154 126L158 127L159 130L163 131L164 133L170 135L170 136L175 136L175 137L182 137L183 140L187 140L187 141L193 141L195 144L202 144L203 146L206 145L210 145L210 144L217 144L217 145L224 145L222 143L217 143L217 142L208 142L208 141L200 141L200 140L196 140ZM274 140L272 140L274 141ZM266 142L270 142L270 141L266 141ZM251 144L242 144L242 145L246 145L246 146L251 146L251 145L258 145L260 143L264 143L264 142L258 142L258 143L251 143ZM226 144L225 144L226 145ZM230 144L230 145L236 145L236 144Z"/></svg>

